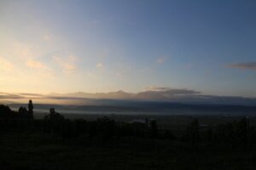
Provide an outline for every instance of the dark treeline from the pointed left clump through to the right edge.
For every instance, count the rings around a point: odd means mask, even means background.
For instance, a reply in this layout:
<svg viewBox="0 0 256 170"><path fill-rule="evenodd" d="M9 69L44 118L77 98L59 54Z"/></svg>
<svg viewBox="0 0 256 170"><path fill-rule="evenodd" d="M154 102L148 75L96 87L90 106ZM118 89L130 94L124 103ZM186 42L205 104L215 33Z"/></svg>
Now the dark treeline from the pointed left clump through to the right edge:
<svg viewBox="0 0 256 170"><path fill-rule="evenodd" d="M247 147L256 142L256 129L250 126L247 117L238 122L220 123L214 127L201 126L197 119L187 125L180 135L174 135L172 130L159 128L157 121L143 122L115 122L104 116L96 121L78 119L71 121L59 113L50 111L44 118L44 133L51 133L62 139L72 139L81 135L89 139L145 138L145 139L171 139L198 144L228 144L229 147Z"/></svg>

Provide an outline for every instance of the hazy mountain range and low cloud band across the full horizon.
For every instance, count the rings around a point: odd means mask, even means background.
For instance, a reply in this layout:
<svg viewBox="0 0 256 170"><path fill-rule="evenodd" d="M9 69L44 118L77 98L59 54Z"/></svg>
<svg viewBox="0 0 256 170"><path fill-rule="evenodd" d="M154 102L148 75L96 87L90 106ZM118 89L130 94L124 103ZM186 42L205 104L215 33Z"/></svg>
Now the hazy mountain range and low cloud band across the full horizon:
<svg viewBox="0 0 256 170"><path fill-rule="evenodd" d="M72 94L0 93L1 103L24 103L27 99L33 99L44 104L64 105L108 105L124 103L125 101L154 101L196 105L256 105L256 98L206 95L194 90L171 88L147 90L139 93L126 93L122 90L109 93L76 92Z"/></svg>

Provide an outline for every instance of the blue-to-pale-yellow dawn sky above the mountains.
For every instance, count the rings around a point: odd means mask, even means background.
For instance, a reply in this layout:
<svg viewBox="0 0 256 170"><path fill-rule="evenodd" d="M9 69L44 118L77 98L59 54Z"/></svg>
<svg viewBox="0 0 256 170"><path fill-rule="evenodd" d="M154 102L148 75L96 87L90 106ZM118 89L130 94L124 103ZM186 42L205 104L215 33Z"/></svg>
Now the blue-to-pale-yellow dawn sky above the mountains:
<svg viewBox="0 0 256 170"><path fill-rule="evenodd" d="M0 91L256 97L253 0L2 0Z"/></svg>

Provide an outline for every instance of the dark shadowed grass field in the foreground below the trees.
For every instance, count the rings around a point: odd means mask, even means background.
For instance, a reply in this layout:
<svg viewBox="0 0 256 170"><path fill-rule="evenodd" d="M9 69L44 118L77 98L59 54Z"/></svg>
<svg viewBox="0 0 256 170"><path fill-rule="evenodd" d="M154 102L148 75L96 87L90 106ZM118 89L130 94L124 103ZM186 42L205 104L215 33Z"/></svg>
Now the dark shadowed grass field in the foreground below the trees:
<svg viewBox="0 0 256 170"><path fill-rule="evenodd" d="M0 169L254 169L245 150L167 139L56 139L38 132L1 133ZM253 168L254 167L254 168Z"/></svg>

